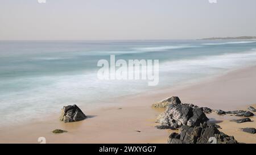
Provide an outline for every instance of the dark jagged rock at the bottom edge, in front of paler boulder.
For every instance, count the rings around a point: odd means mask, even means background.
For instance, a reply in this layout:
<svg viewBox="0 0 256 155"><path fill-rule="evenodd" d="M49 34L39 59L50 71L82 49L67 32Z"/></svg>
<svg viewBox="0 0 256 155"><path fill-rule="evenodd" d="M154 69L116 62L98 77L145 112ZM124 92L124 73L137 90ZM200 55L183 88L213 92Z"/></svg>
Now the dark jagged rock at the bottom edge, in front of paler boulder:
<svg viewBox="0 0 256 155"><path fill-rule="evenodd" d="M195 127L189 127L188 125L182 126L180 133L171 133L168 137L167 144L207 144L211 143L211 140L217 144L237 143L233 136L228 136L218 131L214 125L203 123Z"/></svg>

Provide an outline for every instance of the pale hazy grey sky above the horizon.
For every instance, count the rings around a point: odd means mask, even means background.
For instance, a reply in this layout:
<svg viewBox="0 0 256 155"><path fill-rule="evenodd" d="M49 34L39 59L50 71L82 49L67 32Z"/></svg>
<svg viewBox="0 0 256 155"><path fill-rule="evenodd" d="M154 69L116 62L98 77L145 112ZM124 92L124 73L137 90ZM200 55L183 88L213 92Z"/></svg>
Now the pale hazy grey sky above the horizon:
<svg viewBox="0 0 256 155"><path fill-rule="evenodd" d="M256 36L255 0L0 0L0 40Z"/></svg>

